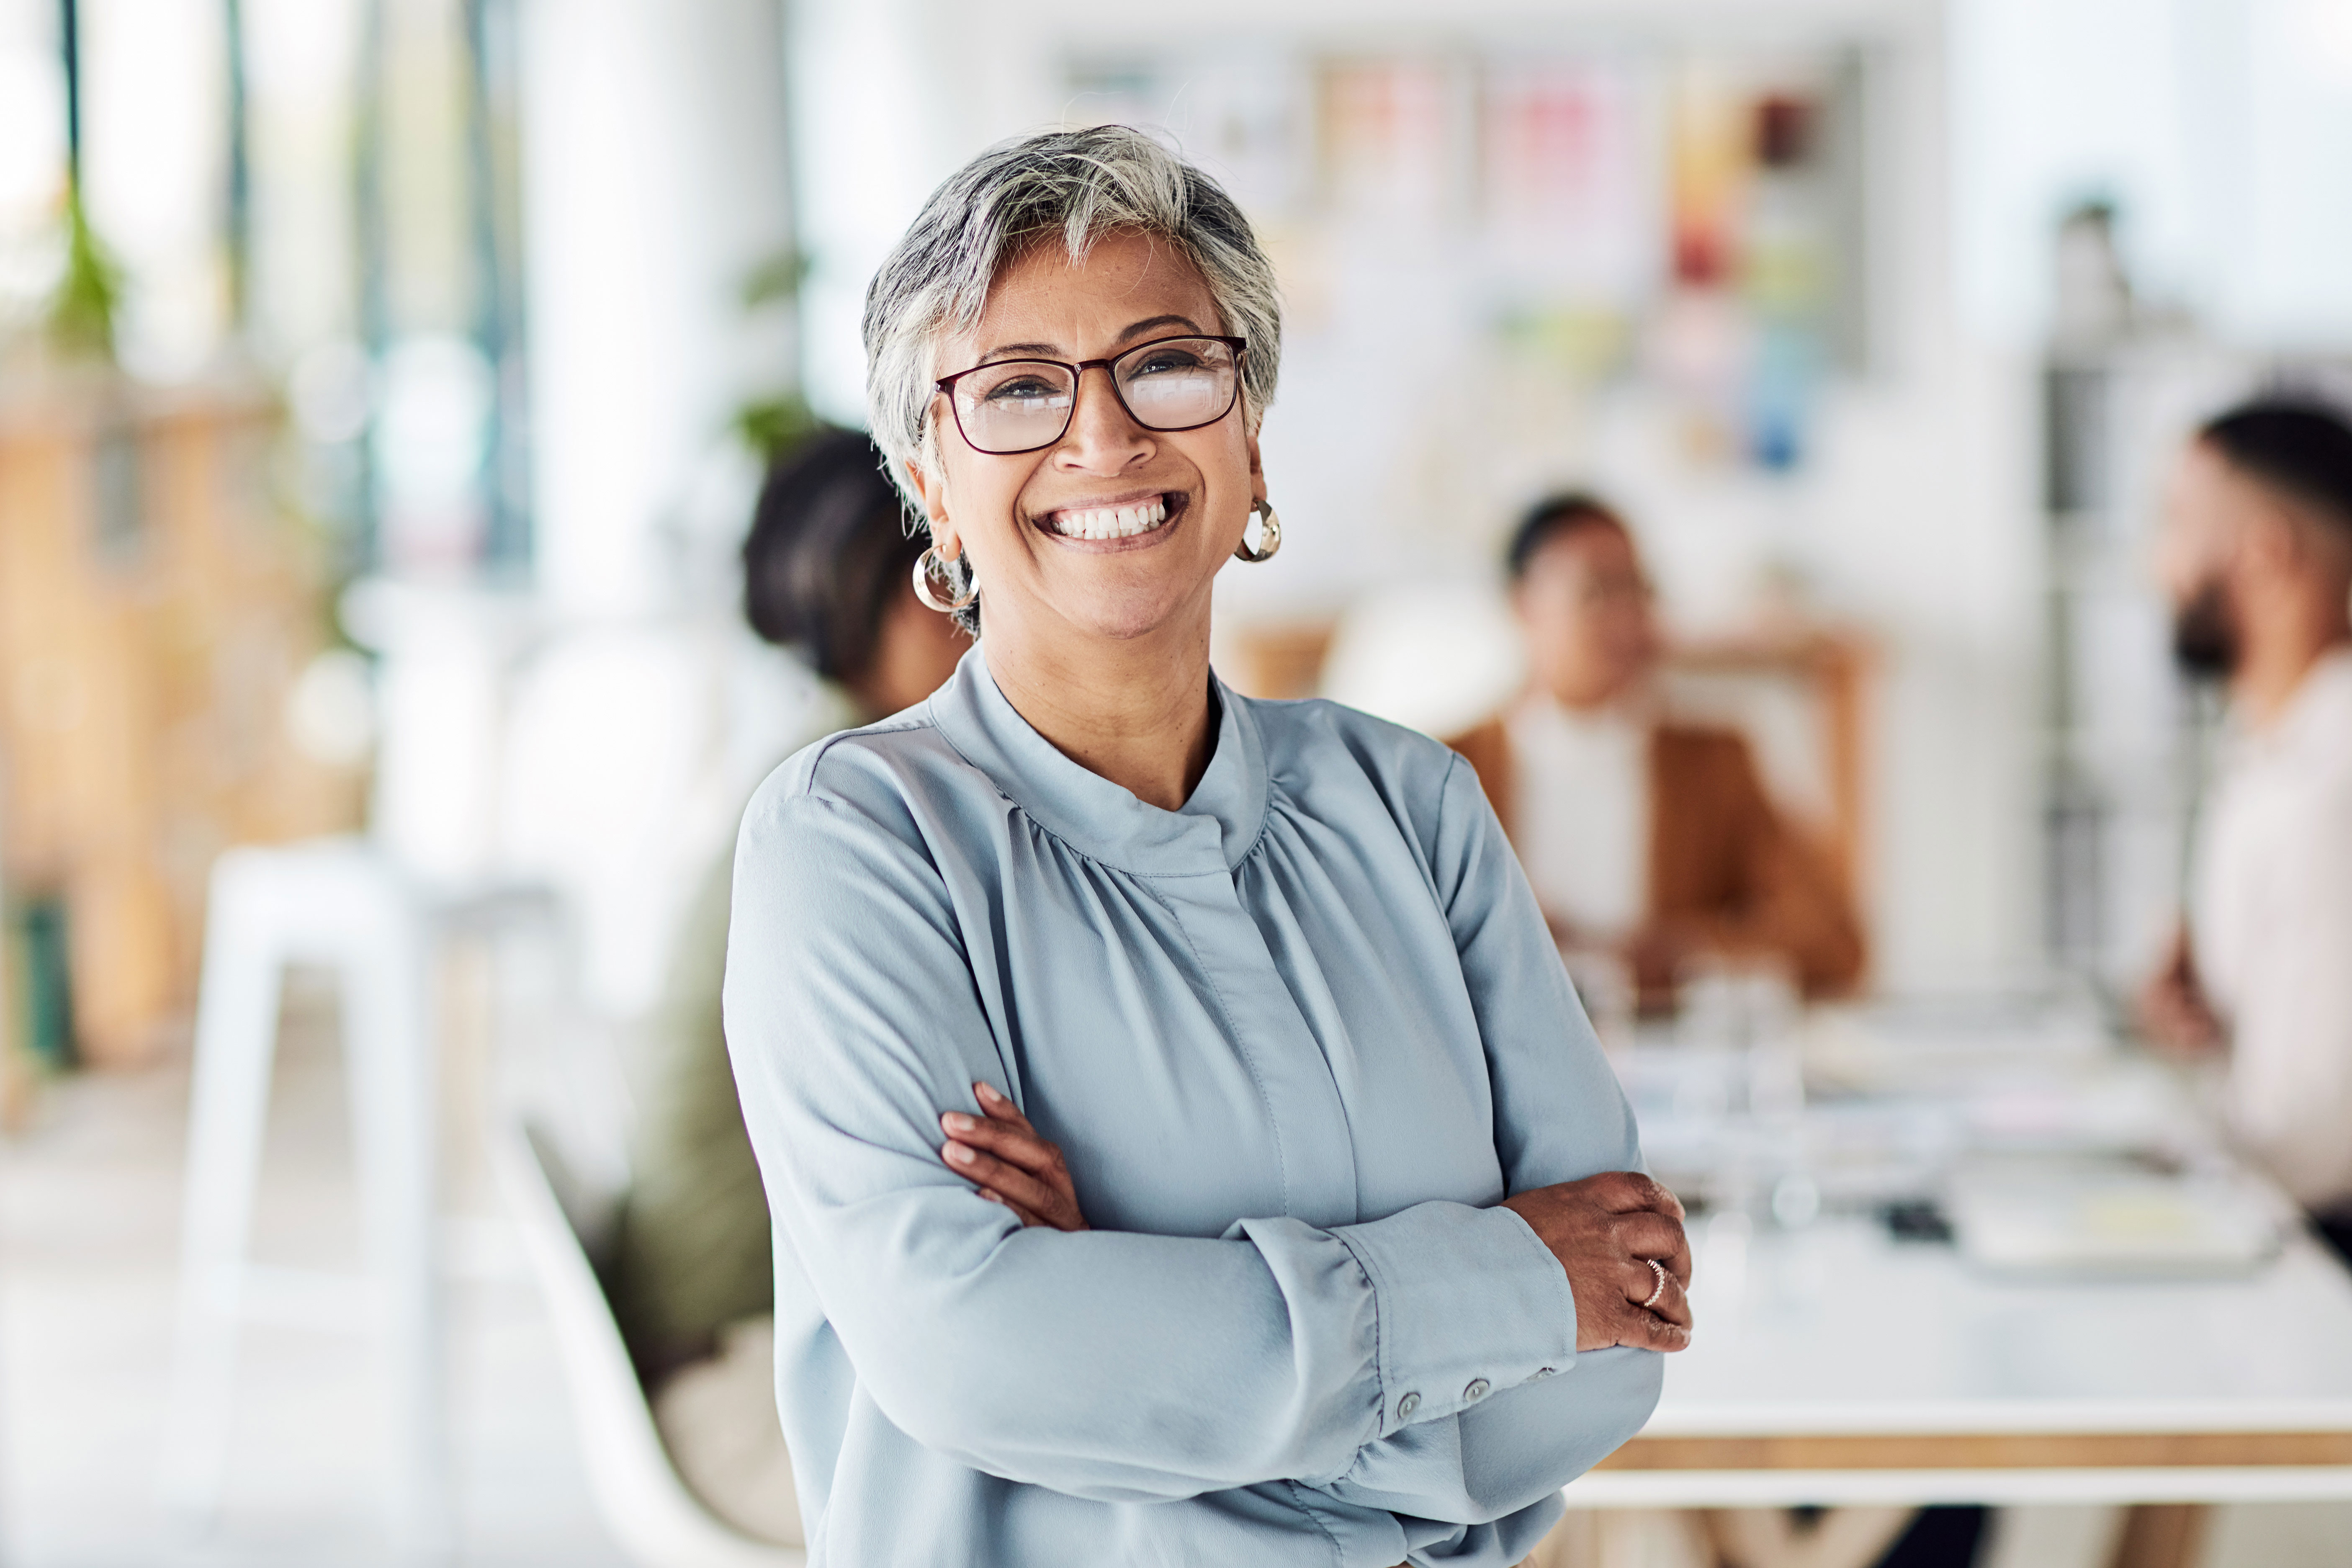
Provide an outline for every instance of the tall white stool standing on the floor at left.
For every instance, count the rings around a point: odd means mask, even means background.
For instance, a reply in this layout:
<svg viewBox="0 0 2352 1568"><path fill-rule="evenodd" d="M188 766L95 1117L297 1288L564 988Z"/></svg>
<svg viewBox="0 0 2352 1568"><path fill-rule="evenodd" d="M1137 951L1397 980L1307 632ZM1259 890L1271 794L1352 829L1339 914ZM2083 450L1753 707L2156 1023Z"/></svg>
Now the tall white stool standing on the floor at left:
<svg viewBox="0 0 2352 1568"><path fill-rule="evenodd" d="M165 1497L216 1514L228 1469L238 1326L339 1319L381 1335L395 1436L390 1512L419 1552L452 1542L435 1281L435 912L358 839L233 849L212 870L195 1018L188 1192ZM287 964L341 983L367 1272L247 1262Z"/></svg>

